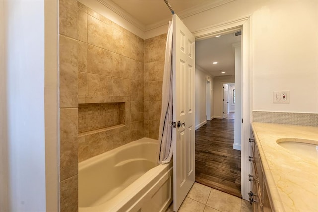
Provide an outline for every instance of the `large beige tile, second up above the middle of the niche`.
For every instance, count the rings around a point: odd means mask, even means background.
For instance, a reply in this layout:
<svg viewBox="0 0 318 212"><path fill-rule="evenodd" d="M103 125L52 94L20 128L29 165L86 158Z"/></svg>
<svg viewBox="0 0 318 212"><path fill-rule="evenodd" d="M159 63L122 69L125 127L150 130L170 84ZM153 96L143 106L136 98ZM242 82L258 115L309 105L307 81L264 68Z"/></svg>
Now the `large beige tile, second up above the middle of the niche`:
<svg viewBox="0 0 318 212"><path fill-rule="evenodd" d="M88 45L88 72L110 76L113 70L112 53L92 45Z"/></svg>

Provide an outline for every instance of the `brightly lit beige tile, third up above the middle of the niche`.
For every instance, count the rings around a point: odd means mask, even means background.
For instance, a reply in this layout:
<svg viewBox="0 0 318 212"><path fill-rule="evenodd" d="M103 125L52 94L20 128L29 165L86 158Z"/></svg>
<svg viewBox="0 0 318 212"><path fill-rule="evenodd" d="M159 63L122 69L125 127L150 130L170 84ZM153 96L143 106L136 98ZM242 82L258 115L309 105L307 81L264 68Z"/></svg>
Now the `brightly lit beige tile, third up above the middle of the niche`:
<svg viewBox="0 0 318 212"><path fill-rule="evenodd" d="M87 15L88 44L113 51L112 27Z"/></svg>

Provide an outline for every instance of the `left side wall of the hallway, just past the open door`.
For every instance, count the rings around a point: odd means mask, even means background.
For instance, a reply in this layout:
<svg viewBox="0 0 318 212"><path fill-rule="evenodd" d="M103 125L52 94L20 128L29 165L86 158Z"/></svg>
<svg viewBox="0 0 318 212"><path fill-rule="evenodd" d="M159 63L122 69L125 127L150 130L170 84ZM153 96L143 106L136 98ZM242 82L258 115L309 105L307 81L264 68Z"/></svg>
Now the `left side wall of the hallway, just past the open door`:
<svg viewBox="0 0 318 212"><path fill-rule="evenodd" d="M206 81L210 78L211 88L213 79L200 67L195 68L195 127L198 129L206 123ZM210 113L213 117L213 91L211 91L211 108ZM212 118L211 117L211 118Z"/></svg>

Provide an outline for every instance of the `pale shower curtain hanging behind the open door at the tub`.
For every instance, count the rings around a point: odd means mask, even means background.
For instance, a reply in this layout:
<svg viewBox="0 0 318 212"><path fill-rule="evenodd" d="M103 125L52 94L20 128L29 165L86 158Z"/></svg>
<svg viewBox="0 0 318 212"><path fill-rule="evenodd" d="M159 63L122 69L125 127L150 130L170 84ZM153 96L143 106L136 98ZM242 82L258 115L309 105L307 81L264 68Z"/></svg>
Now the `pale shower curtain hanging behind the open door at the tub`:
<svg viewBox="0 0 318 212"><path fill-rule="evenodd" d="M173 133L172 133L172 34L173 23L169 22L167 43L165 48L164 72L162 83L162 106L158 138L158 163L170 162L173 154ZM175 139L174 139L175 141Z"/></svg>

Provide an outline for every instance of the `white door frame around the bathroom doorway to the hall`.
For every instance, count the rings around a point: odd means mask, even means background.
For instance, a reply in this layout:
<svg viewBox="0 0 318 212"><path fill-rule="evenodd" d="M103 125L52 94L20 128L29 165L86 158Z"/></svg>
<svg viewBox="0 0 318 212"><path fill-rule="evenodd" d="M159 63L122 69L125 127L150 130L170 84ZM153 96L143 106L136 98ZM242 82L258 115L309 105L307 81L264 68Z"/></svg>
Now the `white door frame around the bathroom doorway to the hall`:
<svg viewBox="0 0 318 212"><path fill-rule="evenodd" d="M192 32L196 41L220 34L227 34L234 30L242 30L242 125L241 125L241 193L245 200L248 200L248 192L251 184L248 181L248 173L251 166L248 161L250 145L248 139L250 137L250 123L252 120L252 78L251 78L251 17L245 16L239 19L215 24L204 29Z"/></svg>

